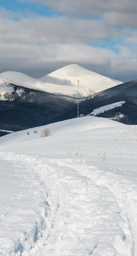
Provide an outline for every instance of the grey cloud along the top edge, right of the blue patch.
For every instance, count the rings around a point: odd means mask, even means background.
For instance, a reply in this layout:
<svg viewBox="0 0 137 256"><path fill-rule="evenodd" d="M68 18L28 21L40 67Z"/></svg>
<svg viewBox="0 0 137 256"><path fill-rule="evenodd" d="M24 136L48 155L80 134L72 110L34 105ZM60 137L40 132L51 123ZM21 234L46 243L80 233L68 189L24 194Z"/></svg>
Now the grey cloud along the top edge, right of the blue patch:
<svg viewBox="0 0 137 256"><path fill-rule="evenodd" d="M64 14L92 17L102 12L136 13L136 0L20 0L52 7Z"/></svg>

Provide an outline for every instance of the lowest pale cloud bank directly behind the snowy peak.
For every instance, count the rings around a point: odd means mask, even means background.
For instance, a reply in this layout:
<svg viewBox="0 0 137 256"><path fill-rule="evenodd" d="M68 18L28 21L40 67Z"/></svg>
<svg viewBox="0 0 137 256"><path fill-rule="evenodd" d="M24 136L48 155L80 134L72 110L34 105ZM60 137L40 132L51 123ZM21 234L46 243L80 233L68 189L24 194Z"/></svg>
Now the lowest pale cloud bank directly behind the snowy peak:
<svg viewBox="0 0 137 256"><path fill-rule="evenodd" d="M126 81L122 76L128 79L130 74L136 79L137 51L133 52L122 46L119 46L119 51L120 53L116 54L110 49L82 44L45 44L42 47L35 44L9 44L7 47L0 43L1 63L5 63L6 71L15 70L40 77L47 74L49 65L50 73L64 65L77 63L121 81ZM29 73L29 70L32 73Z"/></svg>

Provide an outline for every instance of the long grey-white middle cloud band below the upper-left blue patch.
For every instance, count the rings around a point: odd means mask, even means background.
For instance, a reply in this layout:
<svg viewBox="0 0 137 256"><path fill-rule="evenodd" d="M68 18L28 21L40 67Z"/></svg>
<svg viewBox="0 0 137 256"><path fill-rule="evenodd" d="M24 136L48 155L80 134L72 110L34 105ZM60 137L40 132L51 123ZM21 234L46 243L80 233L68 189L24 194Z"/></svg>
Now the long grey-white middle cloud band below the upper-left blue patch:
<svg viewBox="0 0 137 256"><path fill-rule="evenodd" d="M116 29L102 20L81 20L69 17L22 17L19 20L0 18L2 42L28 43L97 43L132 36L129 28Z"/></svg>

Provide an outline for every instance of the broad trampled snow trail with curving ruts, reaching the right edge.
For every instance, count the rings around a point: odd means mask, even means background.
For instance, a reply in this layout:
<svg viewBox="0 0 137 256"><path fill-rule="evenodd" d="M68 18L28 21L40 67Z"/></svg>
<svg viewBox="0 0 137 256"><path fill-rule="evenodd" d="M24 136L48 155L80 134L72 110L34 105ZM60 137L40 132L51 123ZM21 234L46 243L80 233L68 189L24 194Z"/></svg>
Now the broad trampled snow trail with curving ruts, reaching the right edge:
<svg viewBox="0 0 137 256"><path fill-rule="evenodd" d="M100 250L101 256L135 256L137 186L133 180L122 182L115 173L80 160L11 153L4 157L34 170L48 192L46 229L32 243L29 256L94 256Z"/></svg>

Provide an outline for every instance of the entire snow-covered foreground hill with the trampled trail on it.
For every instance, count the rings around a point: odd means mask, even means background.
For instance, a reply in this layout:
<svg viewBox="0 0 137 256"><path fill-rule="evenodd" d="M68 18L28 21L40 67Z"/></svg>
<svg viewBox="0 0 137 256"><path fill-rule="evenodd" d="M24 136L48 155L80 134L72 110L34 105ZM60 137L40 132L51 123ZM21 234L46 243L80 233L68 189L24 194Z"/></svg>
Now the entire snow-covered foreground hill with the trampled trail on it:
<svg viewBox="0 0 137 256"><path fill-rule="evenodd" d="M87 116L0 137L0 255L136 256L137 126Z"/></svg>

